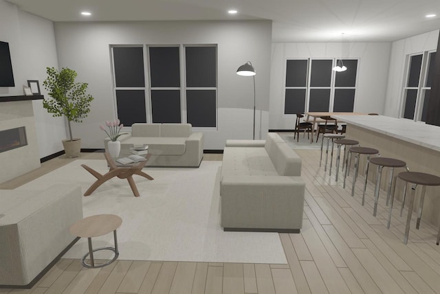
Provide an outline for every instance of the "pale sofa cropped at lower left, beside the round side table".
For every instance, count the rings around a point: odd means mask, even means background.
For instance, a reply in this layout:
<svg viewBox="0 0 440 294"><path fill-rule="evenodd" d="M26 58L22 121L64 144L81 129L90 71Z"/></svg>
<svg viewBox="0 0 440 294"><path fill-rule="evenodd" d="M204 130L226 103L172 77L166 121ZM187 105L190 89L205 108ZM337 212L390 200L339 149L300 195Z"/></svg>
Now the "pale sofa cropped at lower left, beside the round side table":
<svg viewBox="0 0 440 294"><path fill-rule="evenodd" d="M69 227L83 218L83 194L78 185L0 190L0 203L0 285L32 286L76 240Z"/></svg>

